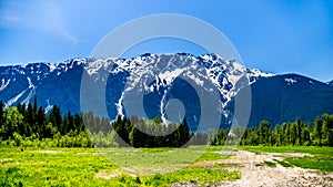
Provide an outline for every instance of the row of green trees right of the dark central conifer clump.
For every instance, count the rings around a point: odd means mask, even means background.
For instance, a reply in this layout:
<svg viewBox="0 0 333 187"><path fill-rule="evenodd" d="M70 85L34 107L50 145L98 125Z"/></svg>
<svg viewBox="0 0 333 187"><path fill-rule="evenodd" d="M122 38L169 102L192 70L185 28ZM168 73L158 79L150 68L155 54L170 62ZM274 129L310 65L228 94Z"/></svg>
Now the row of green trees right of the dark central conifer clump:
<svg viewBox="0 0 333 187"><path fill-rule="evenodd" d="M232 129L210 131L212 145L238 144L245 146L333 146L333 115L322 114L313 124L299 117L291 123L272 126L261 121L259 127L235 126Z"/></svg>

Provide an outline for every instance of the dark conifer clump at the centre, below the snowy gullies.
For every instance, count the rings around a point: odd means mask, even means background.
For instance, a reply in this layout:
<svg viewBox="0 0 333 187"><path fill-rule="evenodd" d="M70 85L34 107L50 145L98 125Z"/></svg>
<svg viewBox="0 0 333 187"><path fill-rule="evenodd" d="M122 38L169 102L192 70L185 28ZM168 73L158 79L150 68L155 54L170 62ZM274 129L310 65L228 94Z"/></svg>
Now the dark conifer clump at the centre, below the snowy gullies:
<svg viewBox="0 0 333 187"><path fill-rule="evenodd" d="M190 129L186 118L182 123L164 125L160 117L152 121L132 116L118 116L112 123L117 132L119 146L138 147L181 147L190 141Z"/></svg>

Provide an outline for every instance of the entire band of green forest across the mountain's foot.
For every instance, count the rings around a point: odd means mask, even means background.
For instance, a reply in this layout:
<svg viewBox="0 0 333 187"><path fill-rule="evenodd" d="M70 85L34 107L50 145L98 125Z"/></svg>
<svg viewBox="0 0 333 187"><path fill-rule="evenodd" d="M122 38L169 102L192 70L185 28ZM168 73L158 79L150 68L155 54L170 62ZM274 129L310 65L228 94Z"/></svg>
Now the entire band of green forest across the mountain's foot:
<svg viewBox="0 0 333 187"><path fill-rule="evenodd" d="M84 122L84 123L83 123ZM84 125L85 124L85 125ZM113 122L94 115L62 114L54 105L48 113L33 104L4 107L0 102L0 146L22 147L181 147L188 145L246 146L333 146L333 115L322 114L314 122L272 125L262 121L259 127L190 132L186 118L164 125L151 121L118 116Z"/></svg>

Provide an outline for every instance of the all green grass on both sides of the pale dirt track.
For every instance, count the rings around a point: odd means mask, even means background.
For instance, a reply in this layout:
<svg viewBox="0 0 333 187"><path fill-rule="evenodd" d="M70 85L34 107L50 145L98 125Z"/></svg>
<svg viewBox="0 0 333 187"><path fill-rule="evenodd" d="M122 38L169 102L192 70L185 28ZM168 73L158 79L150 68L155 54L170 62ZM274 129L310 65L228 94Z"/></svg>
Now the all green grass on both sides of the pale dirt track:
<svg viewBox="0 0 333 187"><path fill-rule="evenodd" d="M310 153L313 156L264 162L276 167L333 172L331 147L238 147L261 153ZM0 148L0 186L171 186L174 183L223 184L240 178L238 166L200 164L226 159L234 147L189 148ZM228 172L226 167L235 168Z"/></svg>

